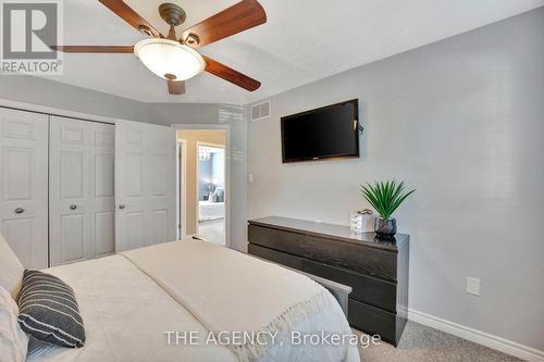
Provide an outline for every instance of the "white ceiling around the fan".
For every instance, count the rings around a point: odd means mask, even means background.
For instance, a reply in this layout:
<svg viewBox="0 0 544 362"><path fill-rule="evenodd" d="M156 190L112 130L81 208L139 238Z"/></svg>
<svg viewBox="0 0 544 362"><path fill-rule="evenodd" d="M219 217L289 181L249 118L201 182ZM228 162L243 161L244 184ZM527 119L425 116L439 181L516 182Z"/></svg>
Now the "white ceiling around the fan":
<svg viewBox="0 0 544 362"><path fill-rule="evenodd" d="M125 0L161 33L160 0ZM169 0L190 26L236 0ZM65 54L53 80L144 102L245 104L544 5L544 0L261 0L268 22L200 51L262 83L248 92L207 73L169 96L131 54ZM181 27L182 30L184 26ZM144 37L98 0L64 1L65 45L134 45Z"/></svg>

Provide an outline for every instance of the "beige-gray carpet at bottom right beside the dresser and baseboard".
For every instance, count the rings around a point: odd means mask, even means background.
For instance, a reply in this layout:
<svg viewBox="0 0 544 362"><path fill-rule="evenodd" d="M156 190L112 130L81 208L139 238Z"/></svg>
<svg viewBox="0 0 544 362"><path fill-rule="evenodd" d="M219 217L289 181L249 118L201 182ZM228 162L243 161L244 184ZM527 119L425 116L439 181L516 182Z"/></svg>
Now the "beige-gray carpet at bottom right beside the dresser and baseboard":
<svg viewBox="0 0 544 362"><path fill-rule="evenodd" d="M361 333L354 332L357 335ZM520 361L499 351L408 322L397 348L382 342L361 348L363 362L505 362Z"/></svg>

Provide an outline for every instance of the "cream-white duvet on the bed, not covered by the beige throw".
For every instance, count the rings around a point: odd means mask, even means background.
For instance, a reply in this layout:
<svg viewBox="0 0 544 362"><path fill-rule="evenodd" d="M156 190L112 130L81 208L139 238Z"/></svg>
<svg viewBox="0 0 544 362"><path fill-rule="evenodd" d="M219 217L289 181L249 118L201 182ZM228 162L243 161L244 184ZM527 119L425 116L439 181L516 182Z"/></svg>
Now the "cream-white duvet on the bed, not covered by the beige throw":
<svg viewBox="0 0 544 362"><path fill-rule="evenodd" d="M183 340L175 344L173 336L184 336L184 332L193 332L201 342L209 332L184 305L123 255L52 267L46 272L73 287L87 340L81 349L39 349L27 358L29 362L238 360L225 346L191 346ZM300 320L293 329L317 333L344 324L341 309L333 308ZM166 342L169 332L177 332L177 335L170 334L171 345ZM345 353L345 346L292 346L289 341L290 332L282 332L276 344L259 361L359 361L355 347Z"/></svg>

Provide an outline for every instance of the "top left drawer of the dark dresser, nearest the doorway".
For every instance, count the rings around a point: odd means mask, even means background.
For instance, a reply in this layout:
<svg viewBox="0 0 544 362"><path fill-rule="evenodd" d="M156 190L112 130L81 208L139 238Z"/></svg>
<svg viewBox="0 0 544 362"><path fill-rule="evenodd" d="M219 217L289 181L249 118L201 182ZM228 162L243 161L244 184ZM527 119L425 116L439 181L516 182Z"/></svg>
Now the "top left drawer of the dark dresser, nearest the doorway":
<svg viewBox="0 0 544 362"><path fill-rule="evenodd" d="M302 234L249 225L248 239L249 242L261 247L281 250L298 257L304 255L305 236Z"/></svg>

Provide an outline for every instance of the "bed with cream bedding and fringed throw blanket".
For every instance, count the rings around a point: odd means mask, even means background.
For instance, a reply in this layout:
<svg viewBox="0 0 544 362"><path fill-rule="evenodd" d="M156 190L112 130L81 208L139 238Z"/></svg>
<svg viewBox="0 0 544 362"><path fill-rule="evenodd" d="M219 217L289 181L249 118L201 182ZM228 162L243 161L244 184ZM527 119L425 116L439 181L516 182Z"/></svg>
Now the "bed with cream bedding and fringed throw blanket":
<svg viewBox="0 0 544 362"><path fill-rule="evenodd" d="M293 333L351 335L326 289L227 248L174 241L46 272L74 289L87 340L81 349L41 347L28 362L360 361L357 346L293 344ZM275 330L273 344L205 342L220 330L258 329ZM198 342L187 344L186 332Z"/></svg>

